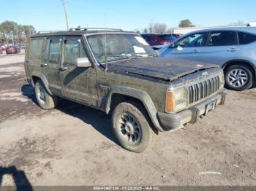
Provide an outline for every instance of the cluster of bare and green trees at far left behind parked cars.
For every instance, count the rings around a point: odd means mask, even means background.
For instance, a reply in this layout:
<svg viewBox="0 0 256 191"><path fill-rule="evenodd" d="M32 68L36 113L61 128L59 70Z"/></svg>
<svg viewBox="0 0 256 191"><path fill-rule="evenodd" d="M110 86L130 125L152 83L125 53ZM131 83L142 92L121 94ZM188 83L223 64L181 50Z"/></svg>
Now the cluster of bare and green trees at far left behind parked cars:
<svg viewBox="0 0 256 191"><path fill-rule="evenodd" d="M20 25L6 20L0 23L0 44L26 43L29 36L36 33L34 26Z"/></svg>

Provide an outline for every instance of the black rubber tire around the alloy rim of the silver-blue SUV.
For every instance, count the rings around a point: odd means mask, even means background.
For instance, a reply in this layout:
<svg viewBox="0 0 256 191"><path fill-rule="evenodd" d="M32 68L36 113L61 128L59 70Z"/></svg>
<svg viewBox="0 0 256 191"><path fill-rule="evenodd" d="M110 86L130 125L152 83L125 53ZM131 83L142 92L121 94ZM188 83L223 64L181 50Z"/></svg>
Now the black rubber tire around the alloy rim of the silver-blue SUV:
<svg viewBox="0 0 256 191"><path fill-rule="evenodd" d="M233 71L235 69L241 69L241 70L245 71L246 74L247 74L248 80L241 87L235 87L235 86L231 85L231 83L228 80L228 74L230 74L230 71ZM225 87L227 87L227 89L229 89L229 90L236 90L236 91L242 91L242 90L247 90L250 87L252 87L252 84L253 84L253 75L252 75L252 71L249 69L249 67L244 66L244 65L236 64L236 65L228 67L225 70Z"/></svg>

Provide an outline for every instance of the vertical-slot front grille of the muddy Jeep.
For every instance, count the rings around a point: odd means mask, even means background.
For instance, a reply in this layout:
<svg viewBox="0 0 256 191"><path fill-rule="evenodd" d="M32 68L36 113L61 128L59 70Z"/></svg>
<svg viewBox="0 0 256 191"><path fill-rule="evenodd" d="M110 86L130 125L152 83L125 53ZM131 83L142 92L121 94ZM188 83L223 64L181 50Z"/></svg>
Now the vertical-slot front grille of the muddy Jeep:
<svg viewBox="0 0 256 191"><path fill-rule="evenodd" d="M219 77L213 77L187 87L189 104L193 104L200 101L200 99L207 98L209 95L216 93L219 90L219 83Z"/></svg>

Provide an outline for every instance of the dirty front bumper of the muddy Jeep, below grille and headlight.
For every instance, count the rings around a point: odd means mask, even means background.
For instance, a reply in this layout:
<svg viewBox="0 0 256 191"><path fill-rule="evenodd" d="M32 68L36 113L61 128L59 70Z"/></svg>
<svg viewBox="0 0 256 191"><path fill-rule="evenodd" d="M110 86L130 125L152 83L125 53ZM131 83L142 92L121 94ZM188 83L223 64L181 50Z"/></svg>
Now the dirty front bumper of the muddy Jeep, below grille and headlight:
<svg viewBox="0 0 256 191"><path fill-rule="evenodd" d="M211 98L208 98L206 101L176 114L158 112L157 115L163 130L174 130L176 128L182 128L183 125L187 123L196 123L200 116L207 115L208 112L214 110L217 105L224 105L226 95L227 90L223 89L221 92L217 93L217 95L211 96Z"/></svg>

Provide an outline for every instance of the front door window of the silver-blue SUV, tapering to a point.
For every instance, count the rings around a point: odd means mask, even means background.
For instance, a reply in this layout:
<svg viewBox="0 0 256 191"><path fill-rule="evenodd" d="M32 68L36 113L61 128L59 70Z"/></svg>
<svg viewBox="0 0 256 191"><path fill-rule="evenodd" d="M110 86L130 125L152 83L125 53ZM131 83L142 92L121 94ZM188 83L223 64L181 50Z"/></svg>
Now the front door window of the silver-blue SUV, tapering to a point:
<svg viewBox="0 0 256 191"><path fill-rule="evenodd" d="M180 47L203 47L206 44L207 33L192 34L178 41Z"/></svg>

